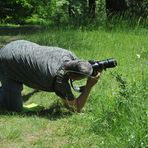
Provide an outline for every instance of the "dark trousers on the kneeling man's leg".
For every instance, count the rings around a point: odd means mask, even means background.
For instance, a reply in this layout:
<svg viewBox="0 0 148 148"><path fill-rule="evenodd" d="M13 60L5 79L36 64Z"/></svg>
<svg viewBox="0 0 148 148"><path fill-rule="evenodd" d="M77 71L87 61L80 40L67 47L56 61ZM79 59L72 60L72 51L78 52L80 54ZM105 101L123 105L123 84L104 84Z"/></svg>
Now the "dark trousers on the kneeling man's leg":
<svg viewBox="0 0 148 148"><path fill-rule="evenodd" d="M1 84L0 108L6 108L10 111L21 111L23 105L21 96L23 85L14 80L3 80Z"/></svg>

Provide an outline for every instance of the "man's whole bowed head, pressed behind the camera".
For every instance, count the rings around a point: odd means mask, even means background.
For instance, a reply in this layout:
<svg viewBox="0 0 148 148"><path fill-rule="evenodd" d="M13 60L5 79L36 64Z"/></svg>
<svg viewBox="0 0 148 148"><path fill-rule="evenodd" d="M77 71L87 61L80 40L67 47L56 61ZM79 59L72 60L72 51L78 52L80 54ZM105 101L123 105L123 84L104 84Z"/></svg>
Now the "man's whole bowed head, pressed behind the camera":
<svg viewBox="0 0 148 148"><path fill-rule="evenodd" d="M88 61L73 60L65 64L66 74L70 79L80 80L91 76L93 68Z"/></svg>

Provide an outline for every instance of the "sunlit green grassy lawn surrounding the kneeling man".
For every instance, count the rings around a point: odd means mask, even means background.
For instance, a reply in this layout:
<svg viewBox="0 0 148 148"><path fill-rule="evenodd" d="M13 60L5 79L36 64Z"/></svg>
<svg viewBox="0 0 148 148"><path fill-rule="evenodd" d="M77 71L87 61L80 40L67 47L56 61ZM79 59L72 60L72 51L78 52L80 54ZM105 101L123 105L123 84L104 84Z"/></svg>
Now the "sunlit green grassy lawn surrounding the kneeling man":
<svg viewBox="0 0 148 148"><path fill-rule="evenodd" d="M118 67L103 72L82 113L65 109L54 93L24 86L24 104L34 102L45 110L0 111L0 147L146 148L148 30L39 30L0 30L0 46L26 39L69 49L82 59L114 57Z"/></svg>

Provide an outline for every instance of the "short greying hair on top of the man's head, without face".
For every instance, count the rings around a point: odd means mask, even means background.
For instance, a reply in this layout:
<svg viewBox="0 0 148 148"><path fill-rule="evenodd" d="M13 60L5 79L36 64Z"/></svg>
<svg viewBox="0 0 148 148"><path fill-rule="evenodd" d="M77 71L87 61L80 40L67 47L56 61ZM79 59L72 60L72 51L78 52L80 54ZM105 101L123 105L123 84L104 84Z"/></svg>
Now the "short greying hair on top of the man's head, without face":
<svg viewBox="0 0 148 148"><path fill-rule="evenodd" d="M65 70L69 73L91 76L93 68L88 61L72 60L65 64Z"/></svg>

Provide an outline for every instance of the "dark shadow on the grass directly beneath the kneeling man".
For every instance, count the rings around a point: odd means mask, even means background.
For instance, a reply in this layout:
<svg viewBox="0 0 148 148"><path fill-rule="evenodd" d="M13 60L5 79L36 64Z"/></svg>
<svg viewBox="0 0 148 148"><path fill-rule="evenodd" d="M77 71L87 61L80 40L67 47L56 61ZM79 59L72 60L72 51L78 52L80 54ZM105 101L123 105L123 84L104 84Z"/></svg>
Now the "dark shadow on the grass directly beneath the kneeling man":
<svg viewBox="0 0 148 148"><path fill-rule="evenodd" d="M33 90L30 93L23 95L23 102L26 102L29 100L31 96L33 96L35 93L40 92L39 90ZM73 112L66 109L65 106L60 103L59 101L54 102L49 106L49 108L44 108L41 106L41 109L26 109L23 108L23 111L21 112L12 112L8 111L6 109L0 108L0 115L8 115L8 116L38 116L41 118L46 118L49 120L57 120L61 118L65 118L68 116L73 115Z"/></svg>

